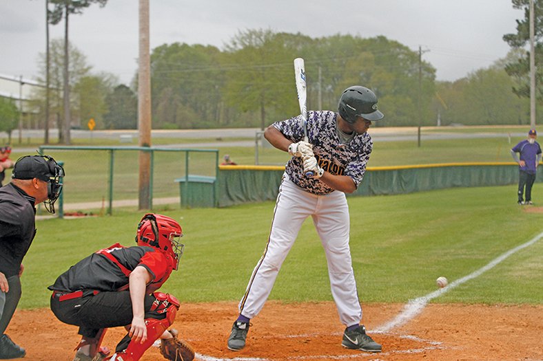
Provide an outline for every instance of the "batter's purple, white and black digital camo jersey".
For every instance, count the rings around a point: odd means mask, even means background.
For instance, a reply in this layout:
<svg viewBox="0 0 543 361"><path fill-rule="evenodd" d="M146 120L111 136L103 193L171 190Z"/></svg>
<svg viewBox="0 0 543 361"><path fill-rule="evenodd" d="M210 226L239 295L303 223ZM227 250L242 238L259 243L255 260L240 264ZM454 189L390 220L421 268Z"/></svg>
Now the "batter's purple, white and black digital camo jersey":
<svg viewBox="0 0 543 361"><path fill-rule="evenodd" d="M351 177L358 188L366 171L373 141L366 132L357 134L348 144L342 144L336 131L336 116L337 113L334 111L309 111L307 113L309 143L313 144L313 153L320 168L333 175ZM303 140L302 116L275 122L272 126L292 142ZM325 195L334 191L319 179L306 177L303 172L303 160L300 157L292 157L289 160L286 172L294 184L309 193Z"/></svg>

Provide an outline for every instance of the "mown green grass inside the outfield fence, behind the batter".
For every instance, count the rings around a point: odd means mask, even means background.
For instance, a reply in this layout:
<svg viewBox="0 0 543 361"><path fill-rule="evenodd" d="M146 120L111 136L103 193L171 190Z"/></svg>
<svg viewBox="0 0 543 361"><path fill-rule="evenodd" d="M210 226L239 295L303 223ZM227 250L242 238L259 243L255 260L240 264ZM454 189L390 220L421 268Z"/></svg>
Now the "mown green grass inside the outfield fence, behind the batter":
<svg viewBox="0 0 543 361"><path fill-rule="evenodd" d="M543 185L535 184L535 201ZM451 188L351 197L351 253L362 303L399 302L436 289L438 276L466 276L543 230L542 216L515 203L516 187ZM543 201L543 199L542 199ZM185 254L163 290L183 302L238 300L267 240L273 202L231 208L162 210L180 219ZM143 212L47 219L25 257L21 307L48 307L46 287L79 259L120 242L134 245ZM543 240L433 302L543 303ZM270 299L332 300L325 254L310 219Z"/></svg>

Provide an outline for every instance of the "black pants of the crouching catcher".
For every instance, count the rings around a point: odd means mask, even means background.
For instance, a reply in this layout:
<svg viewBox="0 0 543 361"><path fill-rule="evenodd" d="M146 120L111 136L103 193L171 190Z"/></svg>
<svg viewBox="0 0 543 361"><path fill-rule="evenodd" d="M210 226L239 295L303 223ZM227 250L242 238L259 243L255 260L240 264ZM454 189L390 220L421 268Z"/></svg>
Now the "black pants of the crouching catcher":
<svg viewBox="0 0 543 361"><path fill-rule="evenodd" d="M79 334L95 338L100 329L127 326L132 323L132 300L129 291L99 292L83 291L83 296L69 300L60 300L63 294L54 292L51 296L51 311L54 316L68 325L79 326ZM162 320L166 314L150 311L156 298L145 295L145 318ZM117 352L126 349L130 337L128 335L119 342Z"/></svg>

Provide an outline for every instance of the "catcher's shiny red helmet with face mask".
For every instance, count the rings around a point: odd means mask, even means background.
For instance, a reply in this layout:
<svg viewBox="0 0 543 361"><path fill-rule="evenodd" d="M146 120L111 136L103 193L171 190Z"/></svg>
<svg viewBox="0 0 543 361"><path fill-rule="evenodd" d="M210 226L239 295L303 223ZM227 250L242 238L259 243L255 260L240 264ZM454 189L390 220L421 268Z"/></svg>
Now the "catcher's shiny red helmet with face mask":
<svg viewBox="0 0 543 361"><path fill-rule="evenodd" d="M169 254L174 259L174 270L177 270L185 248L181 237L183 230L173 218L147 213L139 222L136 243L150 245Z"/></svg>

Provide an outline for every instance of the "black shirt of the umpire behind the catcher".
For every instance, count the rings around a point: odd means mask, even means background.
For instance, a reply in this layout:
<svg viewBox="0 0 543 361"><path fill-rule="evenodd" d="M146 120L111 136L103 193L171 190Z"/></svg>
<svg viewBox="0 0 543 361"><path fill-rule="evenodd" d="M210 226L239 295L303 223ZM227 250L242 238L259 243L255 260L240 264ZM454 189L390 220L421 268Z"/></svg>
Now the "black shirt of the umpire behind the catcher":
<svg viewBox="0 0 543 361"><path fill-rule="evenodd" d="M19 273L36 235L35 201L11 183L0 188L0 272L6 278Z"/></svg>

